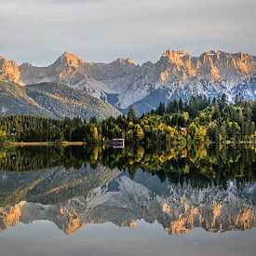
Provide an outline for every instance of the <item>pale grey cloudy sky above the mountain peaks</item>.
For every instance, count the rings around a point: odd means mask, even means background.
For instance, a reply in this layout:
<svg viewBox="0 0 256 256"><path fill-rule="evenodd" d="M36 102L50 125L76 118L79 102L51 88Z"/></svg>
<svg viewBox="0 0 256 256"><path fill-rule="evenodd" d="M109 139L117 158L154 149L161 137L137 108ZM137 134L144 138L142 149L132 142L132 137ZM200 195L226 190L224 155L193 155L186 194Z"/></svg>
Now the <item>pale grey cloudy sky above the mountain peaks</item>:
<svg viewBox="0 0 256 256"><path fill-rule="evenodd" d="M44 66L157 61L166 49L256 55L256 0L0 0L0 55Z"/></svg>

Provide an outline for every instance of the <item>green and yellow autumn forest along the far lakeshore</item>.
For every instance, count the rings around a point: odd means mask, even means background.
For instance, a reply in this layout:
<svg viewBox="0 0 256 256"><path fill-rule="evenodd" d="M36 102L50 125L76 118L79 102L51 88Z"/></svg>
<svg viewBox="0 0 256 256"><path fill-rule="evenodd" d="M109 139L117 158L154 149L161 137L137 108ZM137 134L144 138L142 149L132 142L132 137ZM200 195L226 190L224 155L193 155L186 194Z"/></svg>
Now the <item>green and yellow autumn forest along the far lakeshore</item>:
<svg viewBox="0 0 256 256"><path fill-rule="evenodd" d="M256 141L256 101L236 95L230 102L225 94L217 99L202 95L189 101L168 101L150 113L89 121L65 117L53 119L36 115L0 117L0 141L84 141L105 142L123 138L128 144L210 143Z"/></svg>

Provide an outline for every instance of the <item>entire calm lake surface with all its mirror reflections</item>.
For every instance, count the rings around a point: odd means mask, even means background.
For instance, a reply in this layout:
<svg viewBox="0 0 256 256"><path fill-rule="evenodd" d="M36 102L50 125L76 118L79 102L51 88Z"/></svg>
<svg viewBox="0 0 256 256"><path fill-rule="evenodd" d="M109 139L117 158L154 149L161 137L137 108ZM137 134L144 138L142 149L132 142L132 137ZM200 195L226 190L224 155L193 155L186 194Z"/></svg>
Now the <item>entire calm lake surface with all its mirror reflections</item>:
<svg viewBox="0 0 256 256"><path fill-rule="evenodd" d="M0 149L0 255L255 255L255 145Z"/></svg>

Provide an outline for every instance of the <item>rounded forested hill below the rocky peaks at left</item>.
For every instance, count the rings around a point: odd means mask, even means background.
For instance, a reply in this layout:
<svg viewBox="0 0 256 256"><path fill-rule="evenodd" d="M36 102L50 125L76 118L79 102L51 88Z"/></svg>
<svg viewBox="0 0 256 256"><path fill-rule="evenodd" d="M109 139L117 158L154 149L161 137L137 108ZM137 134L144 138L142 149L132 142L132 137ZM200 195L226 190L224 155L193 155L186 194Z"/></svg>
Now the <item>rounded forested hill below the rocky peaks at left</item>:
<svg viewBox="0 0 256 256"><path fill-rule="evenodd" d="M83 90L56 82L20 87L0 81L0 115L44 115L54 118L78 116L102 120L120 113L114 106Z"/></svg>

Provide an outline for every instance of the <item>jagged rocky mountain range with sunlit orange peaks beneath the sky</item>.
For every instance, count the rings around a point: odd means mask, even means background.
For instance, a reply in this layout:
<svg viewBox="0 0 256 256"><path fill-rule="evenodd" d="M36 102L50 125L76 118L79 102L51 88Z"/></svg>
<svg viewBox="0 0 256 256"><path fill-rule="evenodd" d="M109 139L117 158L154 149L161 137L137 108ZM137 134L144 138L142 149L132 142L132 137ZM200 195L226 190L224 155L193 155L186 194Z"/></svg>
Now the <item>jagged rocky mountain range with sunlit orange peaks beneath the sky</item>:
<svg viewBox="0 0 256 256"><path fill-rule="evenodd" d="M167 50L159 61L141 66L132 59L93 63L69 52L42 68L8 63L13 67L6 69L0 65L1 79L20 85L61 81L124 111L135 104L141 113L159 101L188 99L195 94L214 97L226 93L232 100L241 93L246 99L256 99L256 57L244 53L209 51L194 57L185 51Z"/></svg>

